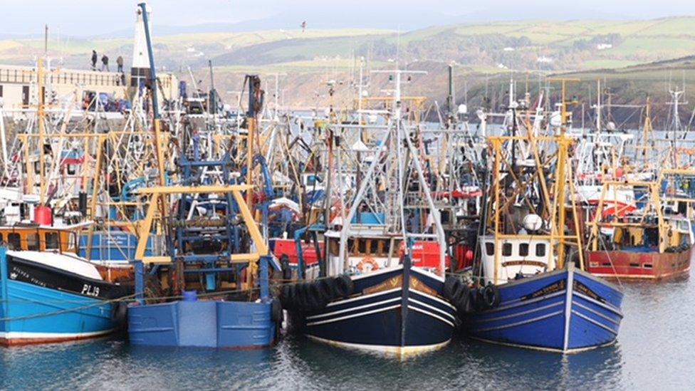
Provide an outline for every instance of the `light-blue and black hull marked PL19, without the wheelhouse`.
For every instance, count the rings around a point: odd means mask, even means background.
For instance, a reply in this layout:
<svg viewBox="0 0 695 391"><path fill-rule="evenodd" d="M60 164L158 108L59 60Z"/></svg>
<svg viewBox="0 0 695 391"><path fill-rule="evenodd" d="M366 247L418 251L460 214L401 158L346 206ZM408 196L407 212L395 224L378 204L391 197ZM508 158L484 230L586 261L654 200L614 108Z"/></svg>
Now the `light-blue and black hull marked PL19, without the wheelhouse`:
<svg viewBox="0 0 695 391"><path fill-rule="evenodd" d="M0 344L56 343L111 333L120 324L113 299L123 289L10 256L2 248Z"/></svg>

